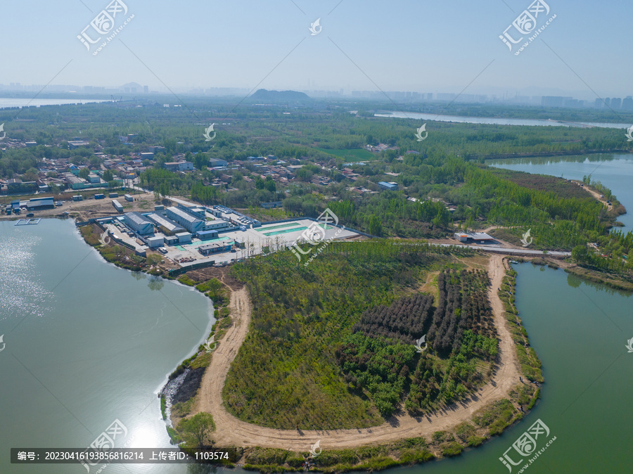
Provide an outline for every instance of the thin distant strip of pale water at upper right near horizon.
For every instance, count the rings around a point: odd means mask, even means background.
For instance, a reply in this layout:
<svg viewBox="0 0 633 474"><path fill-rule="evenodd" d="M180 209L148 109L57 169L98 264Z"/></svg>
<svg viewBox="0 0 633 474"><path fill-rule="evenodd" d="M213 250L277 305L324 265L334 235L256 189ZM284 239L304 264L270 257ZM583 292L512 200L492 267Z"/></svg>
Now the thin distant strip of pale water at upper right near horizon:
<svg viewBox="0 0 633 474"><path fill-rule="evenodd" d="M388 112L377 113L374 117L409 118L415 120L430 120L432 122L454 122L462 124L492 124L492 125L530 125L540 127L574 127L578 124L608 129L628 129L631 124L615 124L603 122L557 122L556 120L501 118L501 117L462 117L460 115L441 115L435 113L416 112Z"/></svg>

